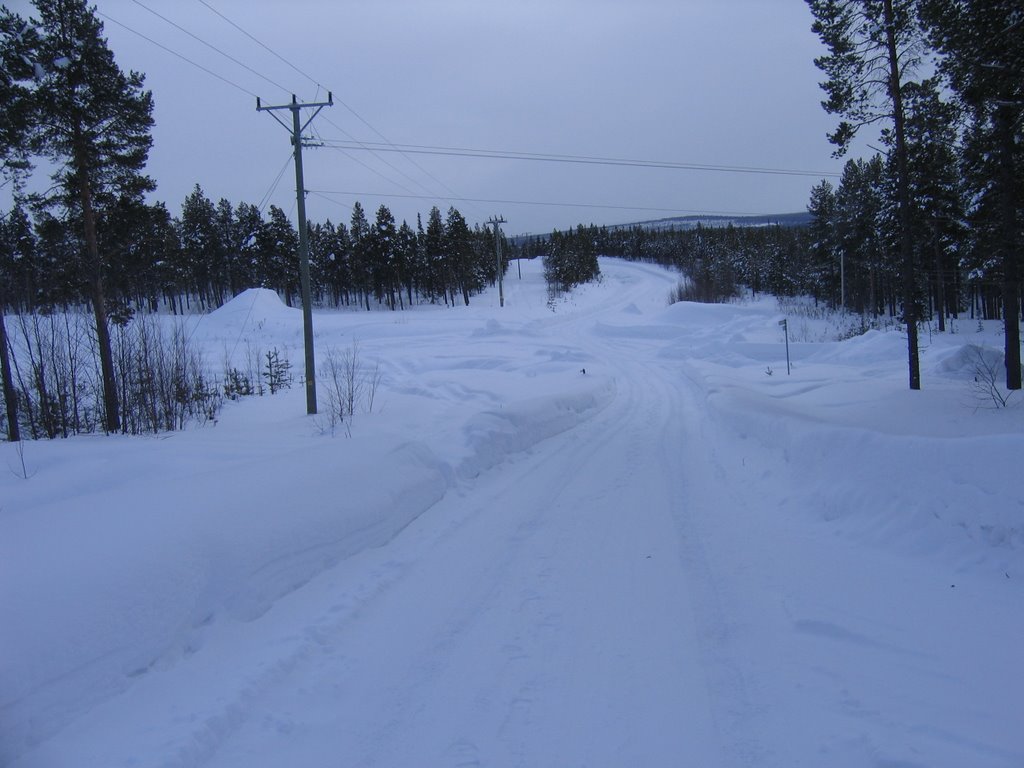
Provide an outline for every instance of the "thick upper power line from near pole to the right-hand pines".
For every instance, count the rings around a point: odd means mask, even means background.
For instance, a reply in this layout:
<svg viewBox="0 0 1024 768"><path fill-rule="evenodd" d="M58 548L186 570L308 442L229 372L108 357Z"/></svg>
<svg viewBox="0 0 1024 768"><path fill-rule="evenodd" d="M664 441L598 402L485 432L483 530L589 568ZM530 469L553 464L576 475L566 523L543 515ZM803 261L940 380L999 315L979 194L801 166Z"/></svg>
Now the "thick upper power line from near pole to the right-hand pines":
<svg viewBox="0 0 1024 768"><path fill-rule="evenodd" d="M329 144L330 145L330 144ZM493 160L527 160L544 163L569 163L577 165L625 166L630 168L665 168L682 171L716 171L723 173L756 173L776 176L822 176L839 178L833 171L805 171L792 168L758 168L752 166L710 165L702 163L677 163L663 160L635 160L628 158L603 158L587 155L554 155L546 153L517 152L511 150L476 150L464 146L432 146L428 144L383 144L376 141L339 141L335 145L346 150L368 150L371 152L400 152L414 155L443 155L460 158L484 158Z"/></svg>

